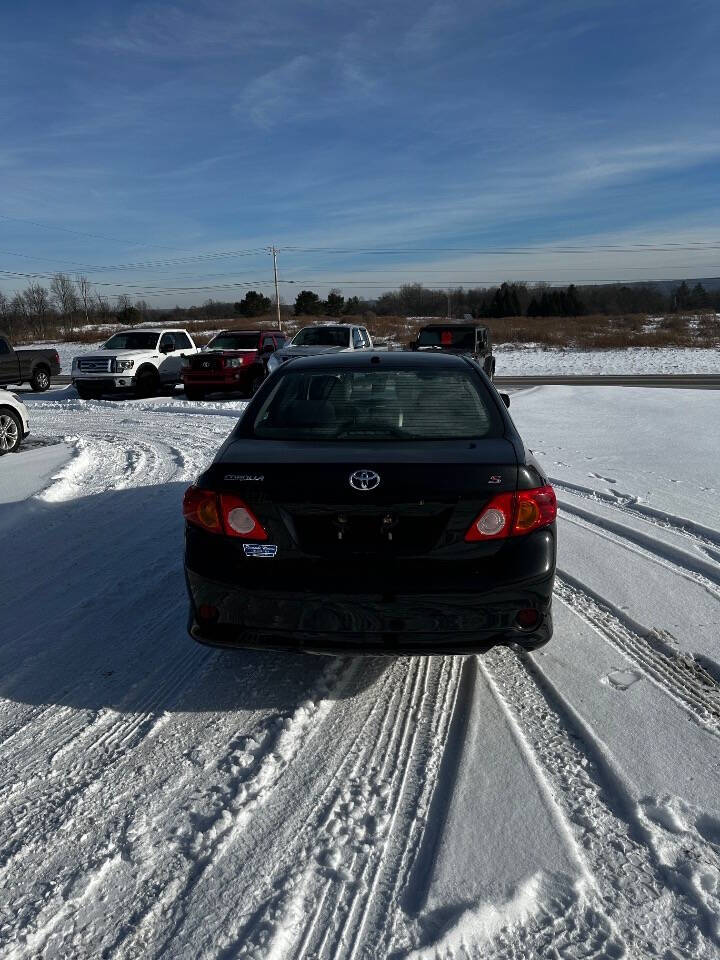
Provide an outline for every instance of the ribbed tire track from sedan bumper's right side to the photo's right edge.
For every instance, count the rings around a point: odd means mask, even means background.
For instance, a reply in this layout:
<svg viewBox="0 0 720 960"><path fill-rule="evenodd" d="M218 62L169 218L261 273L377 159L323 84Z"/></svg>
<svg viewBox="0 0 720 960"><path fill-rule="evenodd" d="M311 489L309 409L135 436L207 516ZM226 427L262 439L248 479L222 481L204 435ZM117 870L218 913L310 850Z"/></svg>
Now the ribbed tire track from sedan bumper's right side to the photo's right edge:
<svg viewBox="0 0 720 960"><path fill-rule="evenodd" d="M673 650L653 631L644 634L609 601L565 571L555 596L682 706L703 729L720 736L720 683L688 653Z"/></svg>

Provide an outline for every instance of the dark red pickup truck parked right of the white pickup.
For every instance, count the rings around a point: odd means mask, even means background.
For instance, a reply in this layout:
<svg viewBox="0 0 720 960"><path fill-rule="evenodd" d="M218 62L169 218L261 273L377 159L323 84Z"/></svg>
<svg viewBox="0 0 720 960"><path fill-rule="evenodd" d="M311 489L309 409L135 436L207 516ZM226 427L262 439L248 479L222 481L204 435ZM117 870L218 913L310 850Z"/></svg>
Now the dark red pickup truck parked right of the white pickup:
<svg viewBox="0 0 720 960"><path fill-rule="evenodd" d="M219 391L252 396L267 376L268 357L287 342L281 330L223 330L188 358L182 370L185 396L202 400Z"/></svg>

